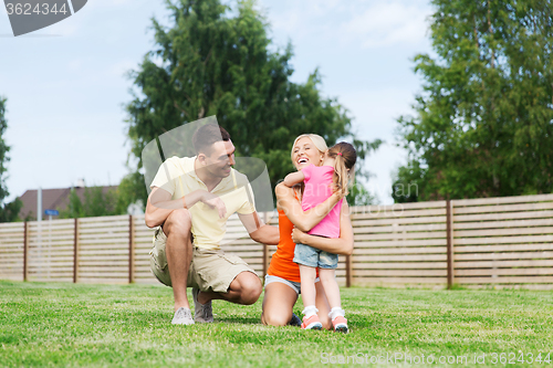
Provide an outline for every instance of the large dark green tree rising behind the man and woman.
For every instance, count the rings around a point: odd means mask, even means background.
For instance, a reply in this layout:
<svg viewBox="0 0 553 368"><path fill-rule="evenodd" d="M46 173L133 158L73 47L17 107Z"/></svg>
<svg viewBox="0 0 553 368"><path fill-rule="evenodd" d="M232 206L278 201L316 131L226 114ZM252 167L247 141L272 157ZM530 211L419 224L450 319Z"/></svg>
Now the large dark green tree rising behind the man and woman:
<svg viewBox="0 0 553 368"><path fill-rule="evenodd" d="M304 84L289 81L292 46L271 51L269 25L253 1L238 1L236 9L219 0L166 3L173 27L153 20L155 49L129 74L140 92L127 105L137 169L142 150L157 135L211 115L232 136L237 156L267 164L273 187L293 170L290 145L302 133L319 134L330 145L353 141L359 167L378 147L379 140L356 139L347 111L321 96L317 70Z"/></svg>

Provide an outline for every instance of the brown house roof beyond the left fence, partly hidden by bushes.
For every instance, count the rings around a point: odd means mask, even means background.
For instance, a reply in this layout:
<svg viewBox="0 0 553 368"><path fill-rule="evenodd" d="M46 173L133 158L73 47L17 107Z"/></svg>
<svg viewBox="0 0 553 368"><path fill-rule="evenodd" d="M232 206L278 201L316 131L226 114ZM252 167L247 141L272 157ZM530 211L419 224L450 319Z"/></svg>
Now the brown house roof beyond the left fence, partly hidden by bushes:
<svg viewBox="0 0 553 368"><path fill-rule="evenodd" d="M83 187L74 188L76 194L81 199L84 200L84 190ZM105 194L109 190L117 190L117 186L106 186L102 187L102 192ZM59 189L42 189L42 211L44 210L64 210L69 204L69 196L71 193L71 188L59 188ZM36 220L36 197L38 190L32 189L28 190L23 193L23 196L19 197L23 202L23 207L19 212L20 219L29 219ZM42 215L44 218L44 214ZM55 217L54 217L55 218Z"/></svg>

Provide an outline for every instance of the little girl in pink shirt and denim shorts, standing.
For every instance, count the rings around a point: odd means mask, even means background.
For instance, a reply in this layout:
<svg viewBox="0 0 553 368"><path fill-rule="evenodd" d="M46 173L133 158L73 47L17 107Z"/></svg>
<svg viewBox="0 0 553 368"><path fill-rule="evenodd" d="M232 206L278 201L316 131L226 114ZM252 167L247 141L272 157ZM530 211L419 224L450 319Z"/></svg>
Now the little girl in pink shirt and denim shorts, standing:
<svg viewBox="0 0 553 368"><path fill-rule="evenodd" d="M301 157L299 160L301 161ZM354 176L354 165L357 160L355 148L342 141L330 148L324 156L322 166L310 165L306 168L289 174L284 178L284 185L293 187L302 181L305 188L302 196L302 208L304 211L324 202L334 191L341 197L347 196L348 183ZM340 209L342 201L334 206L332 211L313 229L311 235L340 238ZM319 319L315 307L315 277L319 267L319 277L324 293L332 307L328 316L335 332L347 333L347 319L341 307L340 288L334 277L334 270L338 264L338 255L327 253L305 244L296 244L294 262L300 265L301 291L303 299L304 329L321 329L323 325Z"/></svg>

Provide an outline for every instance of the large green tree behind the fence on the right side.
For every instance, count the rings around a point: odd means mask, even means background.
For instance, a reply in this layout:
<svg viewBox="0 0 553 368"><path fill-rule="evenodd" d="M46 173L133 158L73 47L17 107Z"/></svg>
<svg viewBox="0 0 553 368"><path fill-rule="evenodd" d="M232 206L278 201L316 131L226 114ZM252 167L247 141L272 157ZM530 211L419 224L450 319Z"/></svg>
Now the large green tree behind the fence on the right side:
<svg viewBox="0 0 553 368"><path fill-rule="evenodd" d="M431 2L436 56L415 57L424 92L398 119L395 200L552 192L551 1ZM417 196L396 193L409 185Z"/></svg>

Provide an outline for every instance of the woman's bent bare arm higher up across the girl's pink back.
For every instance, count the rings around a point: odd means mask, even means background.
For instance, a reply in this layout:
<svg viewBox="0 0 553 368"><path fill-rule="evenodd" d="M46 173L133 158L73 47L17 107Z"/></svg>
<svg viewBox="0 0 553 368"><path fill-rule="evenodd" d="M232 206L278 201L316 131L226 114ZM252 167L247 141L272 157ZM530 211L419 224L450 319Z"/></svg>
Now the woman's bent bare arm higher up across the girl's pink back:
<svg viewBox="0 0 553 368"><path fill-rule="evenodd" d="M340 201L338 194L332 194L321 204L304 212L292 188L281 182L276 186L274 192L276 193L276 207L282 209L286 218L292 221L298 229L304 232L310 231L321 222Z"/></svg>

